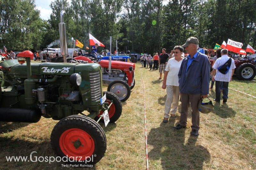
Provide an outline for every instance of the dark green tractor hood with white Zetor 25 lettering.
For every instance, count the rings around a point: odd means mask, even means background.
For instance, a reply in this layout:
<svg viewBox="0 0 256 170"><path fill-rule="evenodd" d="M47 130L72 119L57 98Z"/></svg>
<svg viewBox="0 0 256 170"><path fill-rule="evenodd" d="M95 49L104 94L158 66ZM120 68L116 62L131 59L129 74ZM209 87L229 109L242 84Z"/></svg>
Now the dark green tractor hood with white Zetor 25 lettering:
<svg viewBox="0 0 256 170"><path fill-rule="evenodd" d="M31 63L31 74L36 75L71 75L76 71L98 69L94 63ZM75 69L77 68L77 69ZM11 67L10 76L13 78L27 78L27 65L17 64Z"/></svg>

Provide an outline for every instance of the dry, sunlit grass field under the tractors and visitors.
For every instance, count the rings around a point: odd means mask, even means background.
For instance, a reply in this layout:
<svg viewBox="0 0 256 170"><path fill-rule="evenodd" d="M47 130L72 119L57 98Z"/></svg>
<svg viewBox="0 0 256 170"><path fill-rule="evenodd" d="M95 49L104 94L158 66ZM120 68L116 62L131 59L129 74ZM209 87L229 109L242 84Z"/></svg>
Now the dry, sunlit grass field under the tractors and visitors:
<svg viewBox="0 0 256 170"><path fill-rule="evenodd" d="M227 104L214 106L209 114L200 114L199 136L188 126L175 130L180 118L163 124L166 91L161 88L158 71L136 64L130 98L114 124L103 127L107 136L105 156L92 169L145 169L144 94L146 97L149 169L256 169L256 99L229 90ZM141 78L142 75L142 78ZM256 78L238 81L229 87L256 96ZM106 87L104 87L106 90ZM215 88L214 88L215 89ZM213 89L213 90L214 90ZM215 97L215 91L209 96ZM57 121L42 118L38 123L0 123L0 169L64 169L63 163L7 162L5 156L54 156L50 145L52 128ZM76 169L69 167L68 169Z"/></svg>

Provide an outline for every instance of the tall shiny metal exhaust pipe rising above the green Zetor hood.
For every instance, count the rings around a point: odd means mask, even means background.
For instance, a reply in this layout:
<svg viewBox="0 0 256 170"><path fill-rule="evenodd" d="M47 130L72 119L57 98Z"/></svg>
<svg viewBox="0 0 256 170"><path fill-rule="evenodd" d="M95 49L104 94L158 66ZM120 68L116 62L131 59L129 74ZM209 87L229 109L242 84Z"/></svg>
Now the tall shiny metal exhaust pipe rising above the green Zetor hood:
<svg viewBox="0 0 256 170"><path fill-rule="evenodd" d="M60 30L60 54L63 56L63 62L67 63L67 55L68 55L68 43L67 43L67 36L66 36L66 24L63 22L63 15L64 11L60 12L60 23L59 23L59 30Z"/></svg>

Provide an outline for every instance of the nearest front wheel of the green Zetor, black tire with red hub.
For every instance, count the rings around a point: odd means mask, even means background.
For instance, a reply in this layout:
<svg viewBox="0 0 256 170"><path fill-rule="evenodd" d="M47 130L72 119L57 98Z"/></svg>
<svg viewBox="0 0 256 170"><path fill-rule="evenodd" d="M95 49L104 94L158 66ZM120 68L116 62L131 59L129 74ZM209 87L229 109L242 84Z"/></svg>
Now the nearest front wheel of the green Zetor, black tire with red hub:
<svg viewBox="0 0 256 170"><path fill-rule="evenodd" d="M70 145L69 142L74 143L72 144L74 146ZM86 146L84 146L83 143L86 143ZM79 146L75 148L75 144ZM71 115L60 120L54 126L51 134L51 145L55 153L61 158L67 157L66 155L68 155L68 159L71 159L68 163L76 165L94 165L104 156L107 149L107 139L103 129L94 120L85 116ZM83 147L90 147L91 149L88 150L88 148L86 148L87 151L85 151ZM83 150L84 153L81 152ZM63 151L65 153L63 153ZM76 154L74 152L80 153ZM83 154L88 154L88 156ZM82 161L84 159L84 162L72 159L72 157L76 156L82 156L82 159L77 158L77 160ZM66 158L64 161L65 160Z"/></svg>

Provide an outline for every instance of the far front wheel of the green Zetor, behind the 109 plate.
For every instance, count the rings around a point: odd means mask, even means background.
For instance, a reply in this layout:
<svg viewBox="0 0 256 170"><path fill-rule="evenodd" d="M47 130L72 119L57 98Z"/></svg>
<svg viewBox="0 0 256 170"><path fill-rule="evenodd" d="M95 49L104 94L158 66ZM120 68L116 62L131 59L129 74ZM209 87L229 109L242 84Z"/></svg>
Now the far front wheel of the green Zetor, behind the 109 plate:
<svg viewBox="0 0 256 170"><path fill-rule="evenodd" d="M122 114L122 104L120 102L120 100L118 99L118 97L116 95L114 95L111 92L105 91L103 92L103 95L106 94L106 98L107 100L113 100L113 104L110 106L110 108L108 109L108 116L109 116L109 123L114 123L116 122L116 120L118 120ZM108 101L105 101L108 102ZM110 104L110 102L108 102ZM103 112L100 111L100 114L97 115L94 120L97 121L100 117L100 115ZM103 118L100 120L101 122L104 122Z"/></svg>

